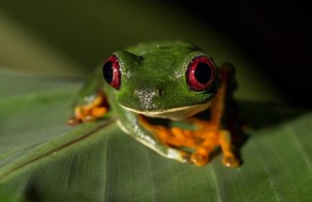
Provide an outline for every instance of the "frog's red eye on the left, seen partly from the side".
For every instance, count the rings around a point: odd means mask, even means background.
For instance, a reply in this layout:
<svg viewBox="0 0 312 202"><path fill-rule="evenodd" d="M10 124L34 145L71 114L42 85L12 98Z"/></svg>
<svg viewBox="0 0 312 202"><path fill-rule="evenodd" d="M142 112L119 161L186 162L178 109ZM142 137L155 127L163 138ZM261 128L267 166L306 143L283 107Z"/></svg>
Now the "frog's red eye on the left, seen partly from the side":
<svg viewBox="0 0 312 202"><path fill-rule="evenodd" d="M121 71L119 68L118 57L110 56L103 66L103 77L107 84L114 89L119 90L121 86Z"/></svg>

